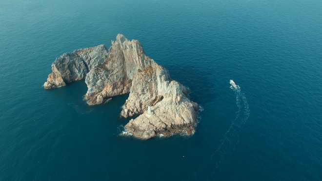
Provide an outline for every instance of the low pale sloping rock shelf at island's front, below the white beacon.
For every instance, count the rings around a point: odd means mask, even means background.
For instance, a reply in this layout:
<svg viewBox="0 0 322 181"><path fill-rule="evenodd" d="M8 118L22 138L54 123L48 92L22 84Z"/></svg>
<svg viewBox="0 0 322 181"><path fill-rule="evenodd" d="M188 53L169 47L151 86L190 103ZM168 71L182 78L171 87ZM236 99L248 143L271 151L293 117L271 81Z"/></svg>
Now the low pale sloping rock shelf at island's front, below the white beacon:
<svg viewBox="0 0 322 181"><path fill-rule="evenodd" d="M186 97L182 97L177 103L162 100L152 106L152 110L154 114L151 117L141 114L138 118L131 119L125 125L127 134L146 140L161 134L171 136L185 132L190 135L195 130L199 105Z"/></svg>

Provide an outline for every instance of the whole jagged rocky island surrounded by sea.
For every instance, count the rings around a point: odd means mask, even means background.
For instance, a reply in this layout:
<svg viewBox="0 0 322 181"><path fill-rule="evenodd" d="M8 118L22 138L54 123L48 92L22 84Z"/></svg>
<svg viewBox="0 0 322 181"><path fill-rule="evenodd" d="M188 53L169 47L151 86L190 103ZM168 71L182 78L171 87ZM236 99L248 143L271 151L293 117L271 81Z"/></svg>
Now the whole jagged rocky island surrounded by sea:
<svg viewBox="0 0 322 181"><path fill-rule="evenodd" d="M43 86L52 89L81 79L88 87L88 105L130 93L121 116L140 116L124 126L128 135L146 140L195 130L198 103L188 99L188 89L172 80L166 68L145 55L138 40L118 34L109 49L99 45L65 53L54 61Z"/></svg>

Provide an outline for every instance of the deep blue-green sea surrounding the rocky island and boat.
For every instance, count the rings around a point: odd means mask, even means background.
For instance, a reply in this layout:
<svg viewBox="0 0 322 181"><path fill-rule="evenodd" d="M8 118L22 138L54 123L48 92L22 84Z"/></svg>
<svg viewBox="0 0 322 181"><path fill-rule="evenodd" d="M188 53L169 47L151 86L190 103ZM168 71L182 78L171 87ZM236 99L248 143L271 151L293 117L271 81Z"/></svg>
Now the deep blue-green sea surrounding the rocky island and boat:
<svg viewBox="0 0 322 181"><path fill-rule="evenodd" d="M128 95L43 89L118 33L190 88L193 136L120 137ZM1 0L0 80L0 181L322 180L321 0Z"/></svg>

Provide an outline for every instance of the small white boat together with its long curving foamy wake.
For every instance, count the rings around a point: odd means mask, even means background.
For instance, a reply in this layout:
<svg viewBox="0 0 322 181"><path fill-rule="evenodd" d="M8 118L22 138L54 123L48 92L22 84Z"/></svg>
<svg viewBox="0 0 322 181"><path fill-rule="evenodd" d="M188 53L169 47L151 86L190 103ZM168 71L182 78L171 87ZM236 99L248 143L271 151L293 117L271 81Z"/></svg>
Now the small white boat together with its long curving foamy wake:
<svg viewBox="0 0 322 181"><path fill-rule="evenodd" d="M236 118L231 122L228 131L225 133L217 150L211 155L211 159L208 161L208 164L204 165L202 169L199 169L195 173L194 176L196 178L204 177L204 174L202 174L203 176L200 176L199 174L201 173L198 172L206 173L206 180L213 180L214 174L217 176L219 175L223 164L229 159L229 156L238 144L239 134L248 120L249 106L247 99L241 92L240 86L236 85L232 80L230 80L230 83L232 84L230 88L232 88L236 94L236 104L238 106Z"/></svg>

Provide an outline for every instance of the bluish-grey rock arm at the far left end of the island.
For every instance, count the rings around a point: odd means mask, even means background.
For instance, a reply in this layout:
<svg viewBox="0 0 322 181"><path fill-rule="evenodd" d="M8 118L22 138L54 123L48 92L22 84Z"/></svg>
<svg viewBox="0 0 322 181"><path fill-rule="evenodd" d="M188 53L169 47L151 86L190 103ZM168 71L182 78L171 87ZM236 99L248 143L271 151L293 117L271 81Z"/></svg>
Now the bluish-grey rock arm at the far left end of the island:
<svg viewBox="0 0 322 181"><path fill-rule="evenodd" d="M53 72L49 74L43 87L51 89L84 79L89 70L106 59L107 54L108 51L104 45L63 54L51 65Z"/></svg>

